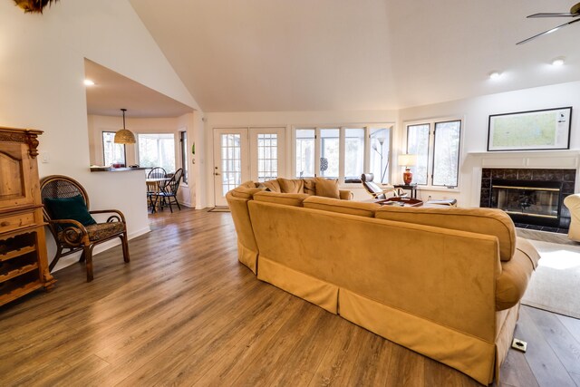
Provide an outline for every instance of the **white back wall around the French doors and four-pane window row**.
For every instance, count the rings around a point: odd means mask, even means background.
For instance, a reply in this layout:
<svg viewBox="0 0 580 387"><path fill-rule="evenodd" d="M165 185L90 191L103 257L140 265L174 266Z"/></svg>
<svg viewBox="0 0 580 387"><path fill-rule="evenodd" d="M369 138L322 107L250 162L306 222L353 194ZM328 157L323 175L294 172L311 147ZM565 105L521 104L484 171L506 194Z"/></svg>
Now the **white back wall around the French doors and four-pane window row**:
<svg viewBox="0 0 580 387"><path fill-rule="evenodd" d="M252 111L252 112L206 112L206 194L208 206L215 203L214 194L214 151L213 130L215 128L243 127L285 127L285 174L291 177L292 160L292 127L313 125L344 125L356 123L394 123L398 119L397 111ZM370 198L362 186L348 187L357 200Z"/></svg>

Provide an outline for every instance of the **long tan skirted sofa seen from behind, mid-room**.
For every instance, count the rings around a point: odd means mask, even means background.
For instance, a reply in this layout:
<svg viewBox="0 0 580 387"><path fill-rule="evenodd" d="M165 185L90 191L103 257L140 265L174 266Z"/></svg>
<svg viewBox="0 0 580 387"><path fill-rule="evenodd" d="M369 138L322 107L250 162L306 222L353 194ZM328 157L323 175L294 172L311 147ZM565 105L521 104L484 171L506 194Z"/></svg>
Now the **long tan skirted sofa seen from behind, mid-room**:
<svg viewBox="0 0 580 387"><path fill-rule="evenodd" d="M498 377L539 259L504 212L247 187L227 201L259 279L478 382Z"/></svg>

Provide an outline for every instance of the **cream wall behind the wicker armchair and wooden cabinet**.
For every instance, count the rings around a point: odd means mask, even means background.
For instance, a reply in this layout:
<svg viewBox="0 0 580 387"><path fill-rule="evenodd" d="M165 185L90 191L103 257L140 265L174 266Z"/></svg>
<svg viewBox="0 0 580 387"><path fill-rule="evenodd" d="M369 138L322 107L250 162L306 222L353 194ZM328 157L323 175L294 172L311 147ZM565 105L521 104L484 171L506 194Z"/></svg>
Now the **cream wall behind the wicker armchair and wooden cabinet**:
<svg viewBox="0 0 580 387"><path fill-rule="evenodd" d="M41 177L78 179L92 208L121 209L135 236L149 229L144 178L89 171L85 57L198 109L127 0L62 1L43 15L0 2L0 124L44 131Z"/></svg>

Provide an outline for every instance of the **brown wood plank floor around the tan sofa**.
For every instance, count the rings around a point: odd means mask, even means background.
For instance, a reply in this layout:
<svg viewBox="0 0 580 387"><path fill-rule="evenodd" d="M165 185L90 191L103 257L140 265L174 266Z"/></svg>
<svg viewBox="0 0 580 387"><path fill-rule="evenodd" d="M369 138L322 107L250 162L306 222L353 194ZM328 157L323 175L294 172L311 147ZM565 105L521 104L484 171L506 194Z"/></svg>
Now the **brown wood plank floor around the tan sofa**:
<svg viewBox="0 0 580 387"><path fill-rule="evenodd" d="M477 386L468 376L256 279L228 213L150 217L152 232L0 307L0 385ZM580 385L580 320L523 307L504 386Z"/></svg>

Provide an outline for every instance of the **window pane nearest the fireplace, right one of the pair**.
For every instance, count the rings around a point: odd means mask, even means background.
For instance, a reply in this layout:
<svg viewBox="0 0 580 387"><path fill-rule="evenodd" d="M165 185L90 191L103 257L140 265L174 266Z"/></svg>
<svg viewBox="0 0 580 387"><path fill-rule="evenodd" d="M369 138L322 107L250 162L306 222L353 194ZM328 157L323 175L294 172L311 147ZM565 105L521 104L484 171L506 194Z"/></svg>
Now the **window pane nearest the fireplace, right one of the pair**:
<svg viewBox="0 0 580 387"><path fill-rule="evenodd" d="M457 187L461 121L436 122L433 185Z"/></svg>

